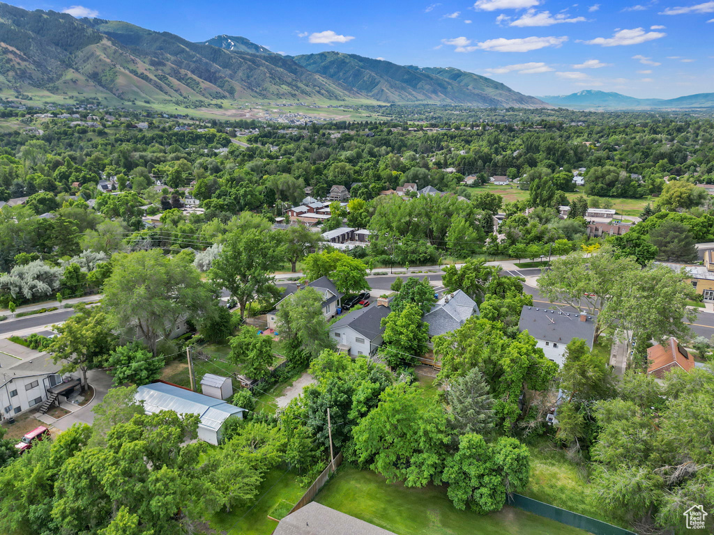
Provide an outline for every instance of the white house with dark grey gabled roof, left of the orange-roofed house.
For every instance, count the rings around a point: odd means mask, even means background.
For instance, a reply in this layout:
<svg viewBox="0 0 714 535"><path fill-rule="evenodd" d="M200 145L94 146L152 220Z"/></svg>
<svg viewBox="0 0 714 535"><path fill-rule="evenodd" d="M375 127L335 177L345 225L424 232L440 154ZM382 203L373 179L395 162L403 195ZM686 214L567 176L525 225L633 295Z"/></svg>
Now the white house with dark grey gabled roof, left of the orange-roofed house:
<svg viewBox="0 0 714 535"><path fill-rule="evenodd" d="M585 344L593 349L596 322L596 317L585 312L578 314L525 306L521 310L518 330L527 330L528 334L535 338L536 345L543 350L545 357L556 362L558 366L563 366L565 346L573 338L585 340Z"/></svg>

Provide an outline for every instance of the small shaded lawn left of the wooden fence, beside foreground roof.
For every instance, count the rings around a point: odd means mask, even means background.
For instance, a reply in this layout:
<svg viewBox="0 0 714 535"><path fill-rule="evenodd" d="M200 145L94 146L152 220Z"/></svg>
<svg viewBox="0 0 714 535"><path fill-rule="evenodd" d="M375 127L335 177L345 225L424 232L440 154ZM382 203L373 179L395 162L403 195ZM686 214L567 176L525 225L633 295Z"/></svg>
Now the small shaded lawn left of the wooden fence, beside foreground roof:
<svg viewBox="0 0 714 535"><path fill-rule="evenodd" d="M295 472L273 469L261 484L256 504L211 516L207 519L211 528L228 535L271 535L278 523L269 519L268 514L280 516L286 503L296 504L305 494L306 489L296 478Z"/></svg>

